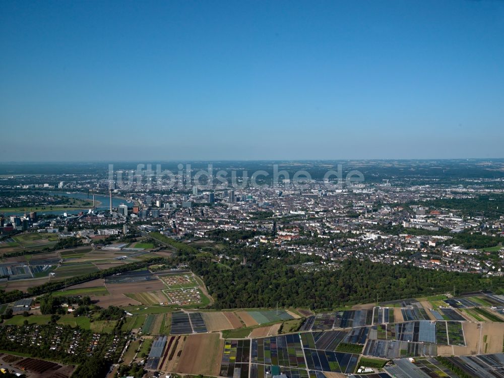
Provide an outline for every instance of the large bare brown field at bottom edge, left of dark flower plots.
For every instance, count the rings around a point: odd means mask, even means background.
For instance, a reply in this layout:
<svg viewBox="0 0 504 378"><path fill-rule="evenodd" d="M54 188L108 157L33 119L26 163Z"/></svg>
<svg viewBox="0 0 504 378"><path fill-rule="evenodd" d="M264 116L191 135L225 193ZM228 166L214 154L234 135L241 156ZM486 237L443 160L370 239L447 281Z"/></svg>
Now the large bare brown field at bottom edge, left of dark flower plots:
<svg viewBox="0 0 504 378"><path fill-rule="evenodd" d="M219 375L224 340L218 334L187 337L176 372L183 374Z"/></svg>

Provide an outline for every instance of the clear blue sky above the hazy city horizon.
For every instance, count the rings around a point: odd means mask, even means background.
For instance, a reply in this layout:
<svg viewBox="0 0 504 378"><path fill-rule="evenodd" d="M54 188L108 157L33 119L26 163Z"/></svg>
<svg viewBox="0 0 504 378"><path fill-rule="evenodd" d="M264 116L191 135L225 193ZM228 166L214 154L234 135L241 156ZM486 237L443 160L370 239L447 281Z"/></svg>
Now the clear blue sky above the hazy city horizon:
<svg viewBox="0 0 504 378"><path fill-rule="evenodd" d="M504 157L504 2L0 2L0 160Z"/></svg>

